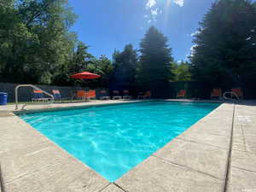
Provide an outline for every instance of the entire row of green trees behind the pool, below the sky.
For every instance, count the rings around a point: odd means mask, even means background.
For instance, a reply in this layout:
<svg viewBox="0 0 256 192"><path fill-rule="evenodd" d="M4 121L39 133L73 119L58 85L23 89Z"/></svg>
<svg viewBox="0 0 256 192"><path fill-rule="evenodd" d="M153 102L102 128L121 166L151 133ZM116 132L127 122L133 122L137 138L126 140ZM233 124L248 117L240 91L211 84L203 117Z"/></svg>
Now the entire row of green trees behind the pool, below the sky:
<svg viewBox="0 0 256 192"><path fill-rule="evenodd" d="M88 52L70 32L76 20L67 0L0 0L0 80L73 85L70 74L90 71L102 79L90 86L117 84L150 90L169 82L202 81L209 87L256 82L256 5L250 0L217 0L202 18L188 61L172 57L168 39L154 26L140 42L115 50L113 59Z"/></svg>

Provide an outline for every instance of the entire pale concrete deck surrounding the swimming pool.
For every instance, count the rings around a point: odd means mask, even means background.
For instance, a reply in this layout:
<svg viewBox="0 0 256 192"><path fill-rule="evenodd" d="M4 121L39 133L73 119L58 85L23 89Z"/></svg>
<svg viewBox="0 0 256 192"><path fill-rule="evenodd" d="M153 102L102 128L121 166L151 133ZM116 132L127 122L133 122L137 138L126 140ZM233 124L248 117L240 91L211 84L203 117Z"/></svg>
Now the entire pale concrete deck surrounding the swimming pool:
<svg viewBox="0 0 256 192"><path fill-rule="evenodd" d="M27 109L123 102L30 105ZM0 107L2 192L256 191L256 102L223 103L114 183L67 154L12 110L14 106Z"/></svg>

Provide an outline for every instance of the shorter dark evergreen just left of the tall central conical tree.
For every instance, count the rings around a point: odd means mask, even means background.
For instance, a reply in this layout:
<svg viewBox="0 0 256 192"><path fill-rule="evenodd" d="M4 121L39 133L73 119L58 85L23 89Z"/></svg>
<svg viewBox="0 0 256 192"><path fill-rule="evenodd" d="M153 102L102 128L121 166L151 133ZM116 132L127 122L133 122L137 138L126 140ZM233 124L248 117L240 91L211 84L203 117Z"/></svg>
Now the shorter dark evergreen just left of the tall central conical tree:
<svg viewBox="0 0 256 192"><path fill-rule="evenodd" d="M131 44L125 45L122 52L113 53L113 81L118 81L119 86L131 87L135 85L137 50Z"/></svg>

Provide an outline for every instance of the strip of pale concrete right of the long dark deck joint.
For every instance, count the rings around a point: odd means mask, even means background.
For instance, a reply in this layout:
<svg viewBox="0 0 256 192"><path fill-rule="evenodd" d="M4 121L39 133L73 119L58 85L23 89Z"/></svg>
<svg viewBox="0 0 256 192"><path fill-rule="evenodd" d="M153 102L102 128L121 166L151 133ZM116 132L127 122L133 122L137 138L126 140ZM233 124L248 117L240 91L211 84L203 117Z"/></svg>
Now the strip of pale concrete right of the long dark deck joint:
<svg viewBox="0 0 256 192"><path fill-rule="evenodd" d="M256 191L256 102L236 105L227 191Z"/></svg>

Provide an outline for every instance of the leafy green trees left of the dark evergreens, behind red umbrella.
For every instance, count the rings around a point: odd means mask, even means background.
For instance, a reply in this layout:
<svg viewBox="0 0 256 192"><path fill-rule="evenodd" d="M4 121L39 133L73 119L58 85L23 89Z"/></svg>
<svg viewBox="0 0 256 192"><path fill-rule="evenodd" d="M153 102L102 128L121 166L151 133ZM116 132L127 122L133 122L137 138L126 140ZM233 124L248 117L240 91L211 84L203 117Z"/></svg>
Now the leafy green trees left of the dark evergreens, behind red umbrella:
<svg viewBox="0 0 256 192"><path fill-rule="evenodd" d="M73 85L70 75L102 75L92 85L108 85L113 72L106 56L96 59L69 32L76 15L67 0L0 0L0 80L15 83Z"/></svg>

